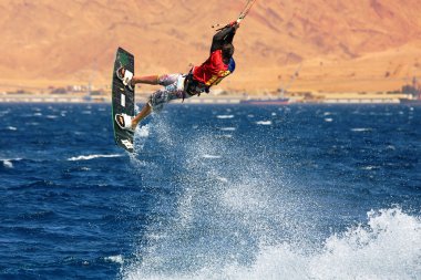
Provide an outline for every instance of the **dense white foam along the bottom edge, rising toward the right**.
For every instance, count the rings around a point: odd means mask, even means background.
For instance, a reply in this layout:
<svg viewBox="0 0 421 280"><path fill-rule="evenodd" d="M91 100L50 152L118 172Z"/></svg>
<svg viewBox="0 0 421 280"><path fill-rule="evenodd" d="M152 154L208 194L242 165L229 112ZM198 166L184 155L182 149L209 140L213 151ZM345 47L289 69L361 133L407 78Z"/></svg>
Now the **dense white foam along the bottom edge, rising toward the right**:
<svg viewBox="0 0 421 280"><path fill-rule="evenodd" d="M233 261L196 271L154 271L138 263L123 269L123 279L409 280L421 277L420 257L420 217L392 208L368 212L367 224L333 234L321 248L297 248L288 242L261 246L250 265Z"/></svg>

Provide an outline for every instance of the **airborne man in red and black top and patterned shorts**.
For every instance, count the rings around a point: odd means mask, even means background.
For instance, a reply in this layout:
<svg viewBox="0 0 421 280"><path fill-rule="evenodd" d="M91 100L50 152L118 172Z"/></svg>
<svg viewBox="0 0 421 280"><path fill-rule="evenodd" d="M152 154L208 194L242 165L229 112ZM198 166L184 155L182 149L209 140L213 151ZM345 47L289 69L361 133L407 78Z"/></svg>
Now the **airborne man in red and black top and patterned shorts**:
<svg viewBox="0 0 421 280"><path fill-rule="evenodd" d="M173 100L189 98L209 92L210 86L218 84L235 70L233 59L233 39L239 23L234 21L219 30L213 38L209 58L199 66L194 66L188 74L165 74L152 76L133 76L133 73L120 68L116 75L123 84L133 91L135 84L160 84L164 87L153 93L141 112L132 117L116 114L115 122L123 129L134 131L137 124L152 111L158 112L165 103Z"/></svg>

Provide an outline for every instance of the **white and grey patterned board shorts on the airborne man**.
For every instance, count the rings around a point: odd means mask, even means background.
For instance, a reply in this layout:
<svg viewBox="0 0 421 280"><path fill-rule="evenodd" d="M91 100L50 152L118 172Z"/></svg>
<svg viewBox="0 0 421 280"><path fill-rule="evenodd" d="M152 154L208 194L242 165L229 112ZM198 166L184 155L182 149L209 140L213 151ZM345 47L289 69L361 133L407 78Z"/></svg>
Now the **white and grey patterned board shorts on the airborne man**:
<svg viewBox="0 0 421 280"><path fill-rule="evenodd" d="M158 83L164 85L164 89L161 89L148 98L148 104L153 111L161 111L165 103L168 103L173 100L189 98L193 95L184 92L184 80L187 75L185 74L166 74L158 77Z"/></svg>

